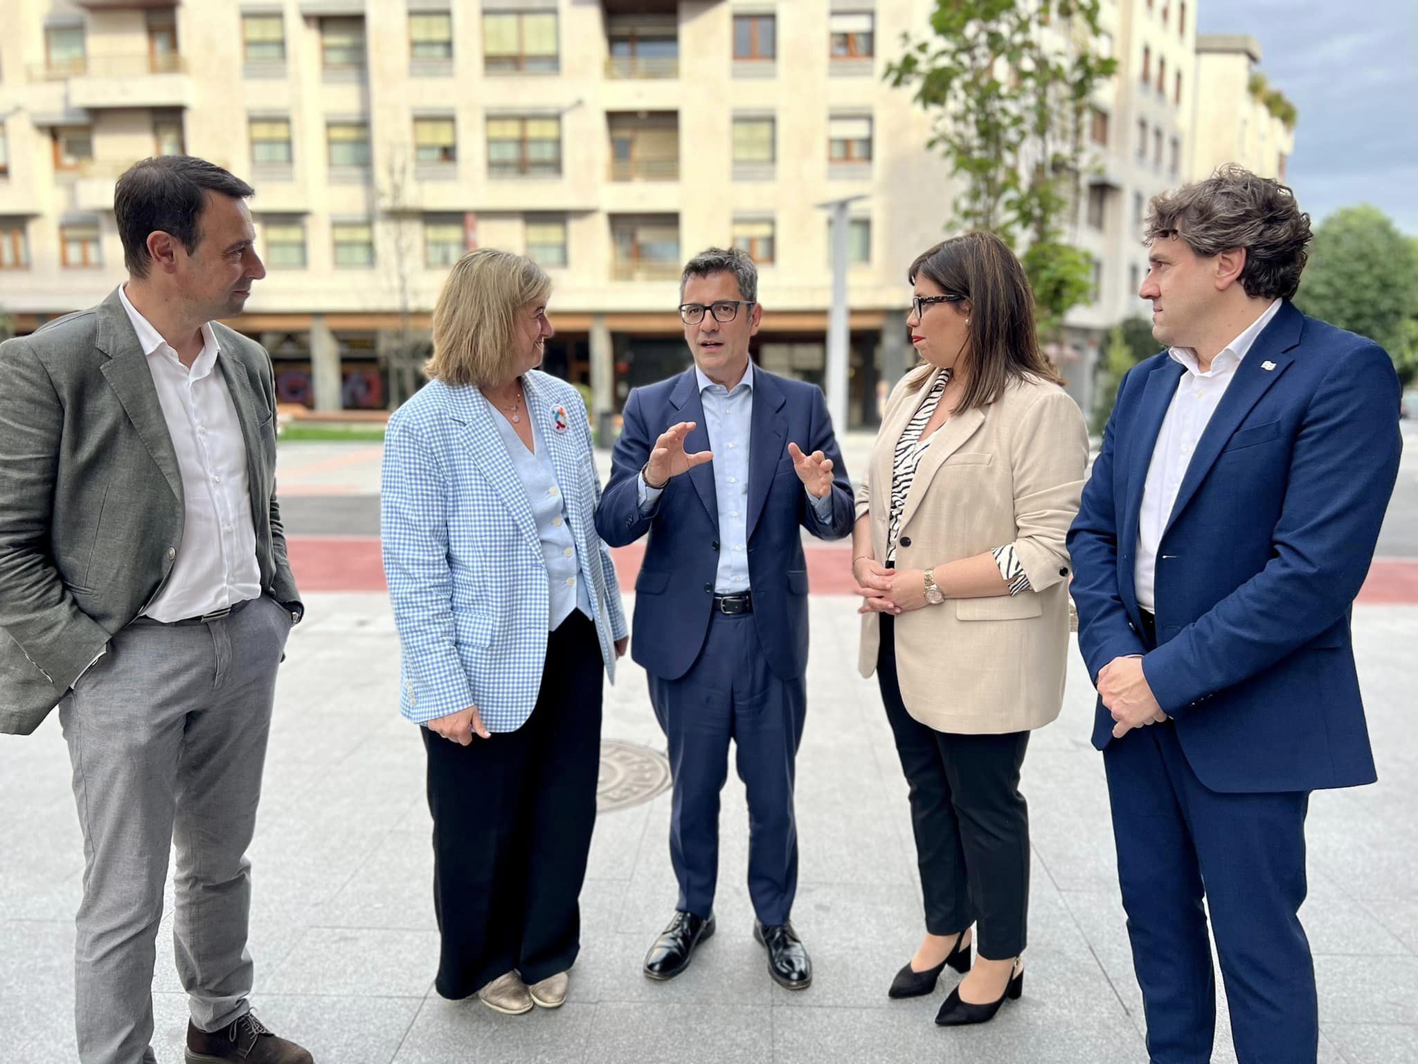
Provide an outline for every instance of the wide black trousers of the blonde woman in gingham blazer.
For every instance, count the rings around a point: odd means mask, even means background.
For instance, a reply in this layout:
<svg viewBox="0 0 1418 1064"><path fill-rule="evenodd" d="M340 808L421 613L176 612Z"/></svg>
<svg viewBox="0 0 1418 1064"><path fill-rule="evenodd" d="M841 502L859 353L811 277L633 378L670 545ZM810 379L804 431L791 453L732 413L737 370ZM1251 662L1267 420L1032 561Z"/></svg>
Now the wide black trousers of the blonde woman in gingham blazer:
<svg viewBox="0 0 1418 1064"><path fill-rule="evenodd" d="M512 969L536 983L576 960L601 670L596 626L576 610L549 636L542 689L518 731L459 746L423 729L444 997L468 997Z"/></svg>

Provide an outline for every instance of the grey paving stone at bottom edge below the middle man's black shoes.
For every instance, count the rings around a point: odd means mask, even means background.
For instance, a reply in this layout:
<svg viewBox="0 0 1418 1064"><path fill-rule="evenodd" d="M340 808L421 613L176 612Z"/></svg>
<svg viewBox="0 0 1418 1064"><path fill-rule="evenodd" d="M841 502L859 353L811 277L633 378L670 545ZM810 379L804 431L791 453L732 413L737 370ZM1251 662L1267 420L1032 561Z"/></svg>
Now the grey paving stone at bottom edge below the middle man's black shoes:
<svg viewBox="0 0 1418 1064"><path fill-rule="evenodd" d="M674 1046L666 1046L672 1033ZM773 1051L767 1006L600 1004L586 1064L759 1064Z"/></svg>

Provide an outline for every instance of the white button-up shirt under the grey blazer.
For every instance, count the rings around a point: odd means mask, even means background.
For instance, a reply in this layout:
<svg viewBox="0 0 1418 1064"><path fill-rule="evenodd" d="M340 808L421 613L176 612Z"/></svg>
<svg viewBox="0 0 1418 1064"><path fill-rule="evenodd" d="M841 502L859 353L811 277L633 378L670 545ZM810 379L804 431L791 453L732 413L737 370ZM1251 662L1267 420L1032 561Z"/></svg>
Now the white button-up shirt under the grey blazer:
<svg viewBox="0 0 1418 1064"><path fill-rule="evenodd" d="M257 599L261 567L251 521L247 443L225 377L217 369L217 336L211 325L201 326L201 353L187 369L122 287L118 294L157 386L157 401L177 451L184 504L182 548L143 616L184 620Z"/></svg>

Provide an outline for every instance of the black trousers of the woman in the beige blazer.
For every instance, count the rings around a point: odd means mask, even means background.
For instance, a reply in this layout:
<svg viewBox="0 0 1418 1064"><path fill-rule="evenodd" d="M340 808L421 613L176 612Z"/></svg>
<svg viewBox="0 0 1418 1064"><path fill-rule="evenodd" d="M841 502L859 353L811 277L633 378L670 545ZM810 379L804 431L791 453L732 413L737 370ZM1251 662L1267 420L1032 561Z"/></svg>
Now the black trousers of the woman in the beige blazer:
<svg viewBox="0 0 1418 1064"><path fill-rule="evenodd" d="M1029 908L1029 809L1020 793L1029 733L950 735L913 719L896 681L896 619L879 619L876 681L910 785L926 931L954 935L976 924L981 956L1018 956Z"/></svg>

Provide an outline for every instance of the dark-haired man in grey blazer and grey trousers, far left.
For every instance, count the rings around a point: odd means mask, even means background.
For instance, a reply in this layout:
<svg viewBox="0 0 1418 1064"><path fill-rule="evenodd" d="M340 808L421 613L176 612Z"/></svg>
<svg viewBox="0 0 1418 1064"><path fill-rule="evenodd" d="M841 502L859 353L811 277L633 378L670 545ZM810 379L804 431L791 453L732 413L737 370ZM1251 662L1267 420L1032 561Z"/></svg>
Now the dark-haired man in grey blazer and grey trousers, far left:
<svg viewBox="0 0 1418 1064"><path fill-rule="evenodd" d="M82 1064L155 1061L176 844L187 1064L309 1064L251 1014L255 829L301 602L275 498L275 384L214 319L265 275L248 184L187 156L125 173L129 279L0 345L0 732L58 705L84 831Z"/></svg>

